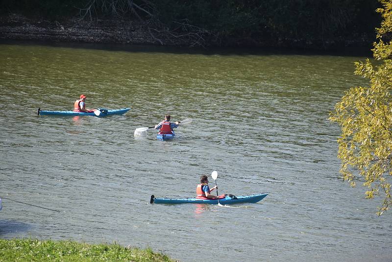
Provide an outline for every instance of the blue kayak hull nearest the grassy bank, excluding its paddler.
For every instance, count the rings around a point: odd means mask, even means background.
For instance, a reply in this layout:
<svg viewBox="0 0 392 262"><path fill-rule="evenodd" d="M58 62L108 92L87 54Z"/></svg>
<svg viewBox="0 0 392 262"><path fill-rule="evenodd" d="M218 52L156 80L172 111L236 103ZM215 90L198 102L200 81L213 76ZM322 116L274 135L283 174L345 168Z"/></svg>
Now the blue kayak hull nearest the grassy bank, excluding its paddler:
<svg viewBox="0 0 392 262"><path fill-rule="evenodd" d="M225 195L224 198L219 199L221 205L233 205L240 203L257 203L263 200L268 194L256 194L256 195ZM155 204L184 204L184 203L196 203L196 204L218 204L218 199L198 199L198 198L155 198L151 195L150 203Z"/></svg>

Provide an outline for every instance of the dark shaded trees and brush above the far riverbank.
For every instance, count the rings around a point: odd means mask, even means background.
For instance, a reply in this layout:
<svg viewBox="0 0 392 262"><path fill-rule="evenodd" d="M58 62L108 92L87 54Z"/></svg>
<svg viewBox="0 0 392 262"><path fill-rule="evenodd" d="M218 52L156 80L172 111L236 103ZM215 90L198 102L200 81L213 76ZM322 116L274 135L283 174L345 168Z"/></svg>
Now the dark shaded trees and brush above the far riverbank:
<svg viewBox="0 0 392 262"><path fill-rule="evenodd" d="M377 0L0 0L0 4L3 14L21 13L57 23L132 21L160 45L368 46L380 23Z"/></svg>

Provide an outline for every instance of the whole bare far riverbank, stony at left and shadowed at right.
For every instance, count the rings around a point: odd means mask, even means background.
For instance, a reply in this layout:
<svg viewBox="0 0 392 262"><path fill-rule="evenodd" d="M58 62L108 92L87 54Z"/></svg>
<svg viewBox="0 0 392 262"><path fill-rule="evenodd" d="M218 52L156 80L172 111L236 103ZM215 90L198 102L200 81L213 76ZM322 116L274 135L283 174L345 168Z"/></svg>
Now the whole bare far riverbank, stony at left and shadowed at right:
<svg viewBox="0 0 392 262"><path fill-rule="evenodd" d="M252 47L300 48L309 50L341 50L342 48L370 49L374 38L356 36L343 39L235 38L221 39L208 32L173 34L157 30L145 22L125 20L84 21L66 19L49 21L27 18L20 14L0 16L0 39L39 40L51 42L148 44L183 47Z"/></svg>

